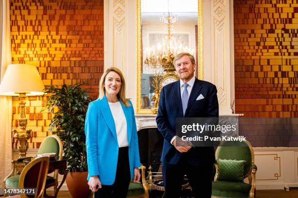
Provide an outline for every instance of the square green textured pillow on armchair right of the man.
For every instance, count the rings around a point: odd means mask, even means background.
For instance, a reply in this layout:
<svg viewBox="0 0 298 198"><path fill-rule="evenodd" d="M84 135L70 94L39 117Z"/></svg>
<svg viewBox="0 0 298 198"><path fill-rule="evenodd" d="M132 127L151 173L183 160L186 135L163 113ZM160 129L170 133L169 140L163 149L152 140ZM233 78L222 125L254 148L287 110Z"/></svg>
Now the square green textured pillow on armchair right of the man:
<svg viewBox="0 0 298 198"><path fill-rule="evenodd" d="M218 159L218 181L243 181L245 160Z"/></svg>

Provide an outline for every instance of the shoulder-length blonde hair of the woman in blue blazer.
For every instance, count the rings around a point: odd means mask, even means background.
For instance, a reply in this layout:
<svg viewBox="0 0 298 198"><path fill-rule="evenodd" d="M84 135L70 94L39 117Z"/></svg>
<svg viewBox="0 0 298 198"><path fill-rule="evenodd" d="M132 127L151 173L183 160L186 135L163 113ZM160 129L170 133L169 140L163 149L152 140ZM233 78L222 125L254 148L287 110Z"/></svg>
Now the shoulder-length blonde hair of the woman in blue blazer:
<svg viewBox="0 0 298 198"><path fill-rule="evenodd" d="M103 99L103 97L106 94L106 90L105 90L105 81L106 81L106 77L108 75L108 73L110 73L111 71L117 73L120 76L120 80L121 80L121 87L120 90L117 94L117 98L124 104L124 106L129 107L130 103L129 100L125 98L125 80L124 80L124 76L122 74L122 72L120 71L120 69L118 69L117 67L110 67L108 68L105 73L102 75L100 82L99 82L99 96L98 99Z"/></svg>

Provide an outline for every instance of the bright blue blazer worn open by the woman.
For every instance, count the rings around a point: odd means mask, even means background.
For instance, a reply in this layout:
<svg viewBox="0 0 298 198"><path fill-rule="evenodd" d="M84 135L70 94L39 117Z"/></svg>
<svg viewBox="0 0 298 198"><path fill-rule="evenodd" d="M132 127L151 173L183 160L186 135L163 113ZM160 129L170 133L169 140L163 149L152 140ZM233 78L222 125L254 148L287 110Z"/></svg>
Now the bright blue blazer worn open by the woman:
<svg viewBox="0 0 298 198"><path fill-rule="evenodd" d="M140 166L138 136L133 107L126 107L120 101L127 122L129 141L130 177L133 168ZM118 141L115 122L106 96L90 102L86 121L86 148L88 163L88 180L97 175L101 184L112 185L115 181L118 161Z"/></svg>

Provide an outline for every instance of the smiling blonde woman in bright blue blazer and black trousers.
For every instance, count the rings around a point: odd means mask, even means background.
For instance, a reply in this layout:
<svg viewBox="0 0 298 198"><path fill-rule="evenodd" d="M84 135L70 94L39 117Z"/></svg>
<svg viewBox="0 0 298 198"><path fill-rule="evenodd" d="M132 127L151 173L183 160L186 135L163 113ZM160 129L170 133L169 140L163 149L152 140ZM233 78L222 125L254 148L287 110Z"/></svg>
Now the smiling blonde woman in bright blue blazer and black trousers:
<svg viewBox="0 0 298 198"><path fill-rule="evenodd" d="M105 71L99 98L90 102L86 121L88 184L95 198L126 198L130 180L140 180L138 137L123 74Z"/></svg>

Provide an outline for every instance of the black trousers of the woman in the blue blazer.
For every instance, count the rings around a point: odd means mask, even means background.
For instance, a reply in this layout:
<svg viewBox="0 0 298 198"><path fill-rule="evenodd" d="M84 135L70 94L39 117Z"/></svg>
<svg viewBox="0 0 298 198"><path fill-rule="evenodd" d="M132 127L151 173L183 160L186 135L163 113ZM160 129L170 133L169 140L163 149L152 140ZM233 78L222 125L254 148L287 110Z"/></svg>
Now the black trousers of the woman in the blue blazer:
<svg viewBox="0 0 298 198"><path fill-rule="evenodd" d="M94 198L126 198L130 185L129 147L119 148L115 181L112 185L102 185Z"/></svg>

